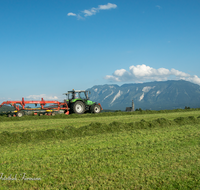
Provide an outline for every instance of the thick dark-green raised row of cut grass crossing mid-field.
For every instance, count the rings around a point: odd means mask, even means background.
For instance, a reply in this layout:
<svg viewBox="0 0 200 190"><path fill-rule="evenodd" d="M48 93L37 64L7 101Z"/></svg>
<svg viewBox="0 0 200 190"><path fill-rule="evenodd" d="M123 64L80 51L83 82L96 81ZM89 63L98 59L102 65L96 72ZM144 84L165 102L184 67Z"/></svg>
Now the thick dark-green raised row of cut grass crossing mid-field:
<svg viewBox="0 0 200 190"><path fill-rule="evenodd" d="M159 118L153 121L145 121L142 119L140 122L112 122L105 123L91 123L89 125L75 128L67 126L64 129L48 129L45 131L25 131L25 132L8 132L3 131L0 133L0 145L7 145L9 143L27 143L30 141L38 141L45 139L61 139L66 140L76 137L93 136L104 133L115 133L120 131L131 131L136 129L152 129L155 127L165 127L171 125L185 125L185 124L199 124L200 116L194 117L178 117L174 120Z"/></svg>

